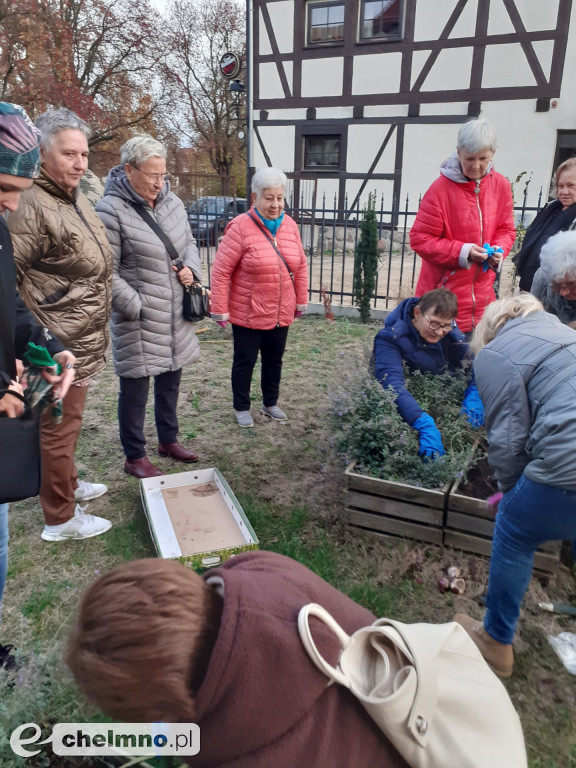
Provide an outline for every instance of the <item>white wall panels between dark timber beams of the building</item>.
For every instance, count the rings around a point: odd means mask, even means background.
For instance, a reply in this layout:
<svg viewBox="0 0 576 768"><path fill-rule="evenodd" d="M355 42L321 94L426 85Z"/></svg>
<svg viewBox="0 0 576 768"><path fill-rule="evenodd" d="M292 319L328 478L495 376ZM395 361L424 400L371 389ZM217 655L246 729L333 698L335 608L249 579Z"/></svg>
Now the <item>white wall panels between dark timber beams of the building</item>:
<svg viewBox="0 0 576 768"><path fill-rule="evenodd" d="M478 0L482 2L483 0ZM522 23L528 31L554 29L557 20L559 2L562 0L516 0ZM415 39L417 41L437 39L445 27L456 6L456 0L419 0L416 5ZM281 53L290 53L294 44L294 8L302 11L300 3L293 0L269 3L267 8L275 30L276 41ZM474 37L476 30L477 2L469 2L450 33L451 40L462 37ZM502 101L482 101L482 115L494 123L499 147L495 156L497 170L513 180L523 171L531 175L529 203L534 204L540 187L548 189L553 167L558 130L576 132L576 12L570 25L568 47L564 65L562 90L549 112L536 112L536 99L515 99ZM503 0L491 0L488 34L513 33ZM545 77L550 76L553 43L537 41L533 43ZM271 46L266 39L264 24L260 24L260 53L269 53ZM421 86L423 95L439 90L444 94L455 89L467 89L470 86L473 49L445 48L437 56L429 74ZM430 51L414 51L411 84L417 80L422 67L429 60ZM380 92L393 93L399 89L401 54L378 53L357 56L353 61L352 93L354 96L371 95ZM284 72L290 89L293 87L292 62L284 62ZM302 64L302 96L305 98L339 96L342 94L343 59L337 50L326 49L326 57L304 60ZM535 77L526 60L520 44L489 45L485 51L482 87L501 88L506 86L521 87L536 84ZM261 64L259 67L259 98L284 98L280 78L275 64ZM373 100L373 99L372 99ZM304 120L305 109L274 109L270 119ZM406 194L417 205L418 195L423 194L438 176L439 166L455 149L459 125L430 124L418 122L421 118L437 116L466 117L468 102L423 101L419 116L404 128L404 147L402 157L401 197ZM343 102L341 106L317 108L316 118L322 120L350 120L352 107ZM408 106L371 104L364 107L365 118L407 117ZM348 152L346 171L349 173L367 173L374 156L380 147L389 123L380 125L354 121L348 128ZM274 165L286 171L294 170L294 126L259 126L259 132ZM383 157L375 169L378 173L392 173L395 167L396 135L393 136ZM258 142L254 142L254 164L258 167L265 162ZM518 199L523 190L525 179L518 185ZM353 200L362 180L347 181L347 195ZM333 196L337 189L336 179L318 180L318 189ZM366 185L364 197L377 190L391 194L391 184L387 181L370 180Z"/></svg>

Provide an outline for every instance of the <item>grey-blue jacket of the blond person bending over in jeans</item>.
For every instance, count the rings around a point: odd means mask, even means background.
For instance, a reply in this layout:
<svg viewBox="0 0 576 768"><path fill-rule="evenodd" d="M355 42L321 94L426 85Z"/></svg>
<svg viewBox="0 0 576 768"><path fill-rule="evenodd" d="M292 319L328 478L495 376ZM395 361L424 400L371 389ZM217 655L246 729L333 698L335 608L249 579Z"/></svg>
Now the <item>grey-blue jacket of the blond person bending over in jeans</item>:
<svg viewBox="0 0 576 768"><path fill-rule="evenodd" d="M474 373L500 490L524 473L576 491L576 331L547 312L508 320L476 356Z"/></svg>

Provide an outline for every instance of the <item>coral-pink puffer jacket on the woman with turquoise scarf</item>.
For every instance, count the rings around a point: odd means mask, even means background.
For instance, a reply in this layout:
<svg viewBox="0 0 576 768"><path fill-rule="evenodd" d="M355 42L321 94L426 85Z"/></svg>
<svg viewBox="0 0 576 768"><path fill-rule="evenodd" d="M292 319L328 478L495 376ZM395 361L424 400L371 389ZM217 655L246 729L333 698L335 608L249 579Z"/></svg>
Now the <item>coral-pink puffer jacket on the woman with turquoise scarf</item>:
<svg viewBox="0 0 576 768"><path fill-rule="evenodd" d="M255 209L237 216L226 227L210 277L212 319L267 331L287 326L296 310L308 302L308 267L296 222L284 219L276 234L276 253L270 232Z"/></svg>

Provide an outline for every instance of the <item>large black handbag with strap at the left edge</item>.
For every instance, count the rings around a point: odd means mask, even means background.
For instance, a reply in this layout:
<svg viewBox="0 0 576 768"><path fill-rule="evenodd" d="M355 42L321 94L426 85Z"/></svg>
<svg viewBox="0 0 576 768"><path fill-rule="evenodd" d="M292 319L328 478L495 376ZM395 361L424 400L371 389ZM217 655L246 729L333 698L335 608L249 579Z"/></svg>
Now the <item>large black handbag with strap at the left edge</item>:
<svg viewBox="0 0 576 768"><path fill-rule="evenodd" d="M8 364L8 374L16 378L16 354L8 312L3 300L0 276L0 342ZM6 394L0 390L0 395ZM22 395L11 392L20 400ZM0 504L37 496L40 490L40 418L41 409L26 410L20 418L0 416Z"/></svg>

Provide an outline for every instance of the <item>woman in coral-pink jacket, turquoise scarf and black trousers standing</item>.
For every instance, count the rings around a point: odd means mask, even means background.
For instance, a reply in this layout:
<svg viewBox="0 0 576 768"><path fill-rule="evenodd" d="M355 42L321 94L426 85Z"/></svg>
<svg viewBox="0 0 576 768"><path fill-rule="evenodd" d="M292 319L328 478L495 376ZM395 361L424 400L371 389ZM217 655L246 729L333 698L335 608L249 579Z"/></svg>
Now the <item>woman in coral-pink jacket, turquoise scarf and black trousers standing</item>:
<svg viewBox="0 0 576 768"><path fill-rule="evenodd" d="M226 228L210 287L212 319L232 324L232 394L240 427L253 427L250 384L262 360L262 412L286 421L277 405L288 328L306 309L308 269L296 222L284 213L286 176L262 168L252 179L252 208Z"/></svg>

